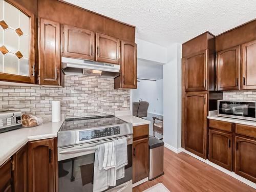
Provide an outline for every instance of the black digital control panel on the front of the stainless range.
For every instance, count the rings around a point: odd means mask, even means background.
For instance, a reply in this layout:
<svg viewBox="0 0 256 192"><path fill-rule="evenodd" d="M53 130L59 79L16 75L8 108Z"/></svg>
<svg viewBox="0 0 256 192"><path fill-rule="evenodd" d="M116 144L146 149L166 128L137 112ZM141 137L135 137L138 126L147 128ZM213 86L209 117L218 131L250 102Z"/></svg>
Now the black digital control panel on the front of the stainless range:
<svg viewBox="0 0 256 192"><path fill-rule="evenodd" d="M119 126L112 126L100 130L88 130L79 132L79 141L85 141L89 139L95 139L100 137L107 137L120 134Z"/></svg>

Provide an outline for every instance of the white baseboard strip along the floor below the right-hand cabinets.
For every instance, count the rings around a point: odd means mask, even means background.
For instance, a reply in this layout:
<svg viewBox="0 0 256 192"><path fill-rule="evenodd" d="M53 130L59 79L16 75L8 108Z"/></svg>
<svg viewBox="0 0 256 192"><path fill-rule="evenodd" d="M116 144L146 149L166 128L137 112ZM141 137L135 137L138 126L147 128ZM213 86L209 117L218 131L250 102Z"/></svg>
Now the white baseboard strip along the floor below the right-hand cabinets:
<svg viewBox="0 0 256 192"><path fill-rule="evenodd" d="M165 144L164 144L164 145L165 145ZM167 147L167 148L168 148L168 147ZM203 158L201 158L201 157L199 157L199 156L197 156L197 155L195 155L195 154L193 154L193 153L191 153L191 152L188 152L188 151L186 151L184 148L181 148L181 149L182 149L182 151L183 151L184 153L186 153L186 154L188 154L188 155L190 155L190 156L193 156L193 157L195 157L196 159L198 159L198 160L200 160L200 161L202 161L202 162L204 162L204 163L206 163L206 164L208 164L208 165L210 165L210 166L212 166L212 167L215 167L215 168L219 169L221 172L224 172L225 174L230 175L231 177L236 178L237 180L239 180L239 181L241 181L241 182L243 182L243 183L245 183L245 184L247 184L247 185L253 187L254 189L256 189L256 183L253 183L252 181L249 181L248 179L245 179L245 178L243 178L243 177L237 175L237 174L234 173L234 172L230 172L229 170L227 170L227 169L225 169L225 168L223 168L223 167L221 167L221 166L219 166L219 165L217 165L217 164L215 164L215 163L210 162L208 159L205 160L205 159L203 159ZM171 150L171 149L170 149L170 150ZM173 151L173 150L171 150L171 151Z"/></svg>

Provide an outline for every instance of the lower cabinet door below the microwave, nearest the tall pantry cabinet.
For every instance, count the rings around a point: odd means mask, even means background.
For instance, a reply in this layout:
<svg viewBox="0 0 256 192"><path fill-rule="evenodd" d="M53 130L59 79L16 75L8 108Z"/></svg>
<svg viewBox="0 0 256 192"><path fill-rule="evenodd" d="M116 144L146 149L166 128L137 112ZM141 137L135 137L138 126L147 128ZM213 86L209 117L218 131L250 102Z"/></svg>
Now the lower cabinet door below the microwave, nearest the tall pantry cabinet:
<svg viewBox="0 0 256 192"><path fill-rule="evenodd" d="M209 130L209 160L232 170L232 134Z"/></svg>

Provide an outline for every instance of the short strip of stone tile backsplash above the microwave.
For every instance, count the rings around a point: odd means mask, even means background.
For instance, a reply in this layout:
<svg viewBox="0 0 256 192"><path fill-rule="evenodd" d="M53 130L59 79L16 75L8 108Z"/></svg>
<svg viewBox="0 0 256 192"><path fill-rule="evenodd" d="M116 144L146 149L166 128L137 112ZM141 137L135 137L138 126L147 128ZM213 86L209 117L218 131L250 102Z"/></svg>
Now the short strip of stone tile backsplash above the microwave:
<svg viewBox="0 0 256 192"><path fill-rule="evenodd" d="M223 100L256 101L256 91L224 91Z"/></svg>

